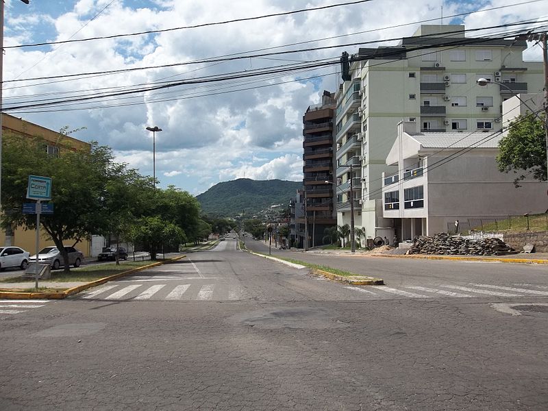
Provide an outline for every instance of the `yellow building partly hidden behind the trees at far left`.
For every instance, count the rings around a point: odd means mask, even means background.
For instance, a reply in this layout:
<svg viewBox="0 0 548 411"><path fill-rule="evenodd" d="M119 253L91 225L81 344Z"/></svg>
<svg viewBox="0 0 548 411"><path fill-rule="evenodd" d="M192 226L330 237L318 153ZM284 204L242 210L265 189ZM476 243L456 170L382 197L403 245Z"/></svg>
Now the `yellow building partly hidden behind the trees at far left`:
<svg viewBox="0 0 548 411"><path fill-rule="evenodd" d="M47 129L40 125L29 123L17 117L10 116L9 114L2 114L2 134L3 135L16 135L23 138L40 138L47 145L47 152L49 154L55 154L58 152L62 141L62 147L68 149L81 149L84 147L90 147L87 142L77 140L76 138L66 136L60 132L55 132L51 129ZM51 145L48 143L51 142ZM40 229L40 249L42 247L54 246L53 241L45 237L45 230ZM47 235L47 234L46 234ZM75 240L66 240L66 245L73 245ZM25 230L22 227L16 228L11 233L0 230L0 245L14 245L21 247L29 253L36 253L36 232L34 230ZM84 256L90 256L90 241L82 240L76 246L77 249L84 253Z"/></svg>

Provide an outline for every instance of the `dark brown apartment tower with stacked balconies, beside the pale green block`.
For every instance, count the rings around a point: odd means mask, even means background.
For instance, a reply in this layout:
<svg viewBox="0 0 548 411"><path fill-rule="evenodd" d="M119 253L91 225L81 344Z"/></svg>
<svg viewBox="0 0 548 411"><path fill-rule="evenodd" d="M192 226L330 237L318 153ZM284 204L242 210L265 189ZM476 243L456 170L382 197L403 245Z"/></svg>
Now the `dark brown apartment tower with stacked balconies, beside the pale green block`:
<svg viewBox="0 0 548 411"><path fill-rule="evenodd" d="M303 116L303 215L295 220L299 247L322 244L323 232L337 223L334 209L334 93L323 92L321 103Z"/></svg>

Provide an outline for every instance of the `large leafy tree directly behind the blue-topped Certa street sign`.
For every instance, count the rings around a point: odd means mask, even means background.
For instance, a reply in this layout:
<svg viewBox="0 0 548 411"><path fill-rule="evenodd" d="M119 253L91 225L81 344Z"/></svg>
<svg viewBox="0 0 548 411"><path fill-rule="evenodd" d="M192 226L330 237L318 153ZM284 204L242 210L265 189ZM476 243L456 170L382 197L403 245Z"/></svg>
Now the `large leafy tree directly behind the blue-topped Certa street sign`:
<svg viewBox="0 0 548 411"><path fill-rule="evenodd" d="M29 175L51 177L51 215L40 217L40 225L60 250L64 271L69 271L69 256L63 242L80 239L101 231L104 224L103 199L113 164L108 147L92 142L90 148L73 149L58 145L58 155L48 155L39 138L6 135L3 139L2 226L36 229L36 216L23 214Z"/></svg>

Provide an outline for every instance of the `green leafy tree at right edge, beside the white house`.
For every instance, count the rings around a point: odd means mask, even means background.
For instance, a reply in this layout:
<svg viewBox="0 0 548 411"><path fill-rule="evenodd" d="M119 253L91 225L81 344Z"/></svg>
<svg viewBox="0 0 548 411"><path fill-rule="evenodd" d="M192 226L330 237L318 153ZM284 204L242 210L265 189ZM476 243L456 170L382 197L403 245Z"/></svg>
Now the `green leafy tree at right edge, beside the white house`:
<svg viewBox="0 0 548 411"><path fill-rule="evenodd" d="M510 132L499 142L499 149L499 171L521 173L514 179L514 186L519 187L519 182L527 176L541 182L546 181L545 123L534 114L519 116L510 123Z"/></svg>

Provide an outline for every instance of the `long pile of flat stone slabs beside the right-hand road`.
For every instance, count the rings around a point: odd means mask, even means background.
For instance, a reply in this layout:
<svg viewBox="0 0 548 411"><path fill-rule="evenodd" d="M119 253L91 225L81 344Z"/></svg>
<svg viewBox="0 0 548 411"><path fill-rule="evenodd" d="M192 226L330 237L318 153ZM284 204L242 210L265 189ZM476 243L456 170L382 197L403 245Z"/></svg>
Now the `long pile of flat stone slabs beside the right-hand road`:
<svg viewBox="0 0 548 411"><path fill-rule="evenodd" d="M408 254L442 254L458 256L501 256L514 253L514 249L499 238L469 240L460 236L449 236L447 233L433 237L417 236L413 240Z"/></svg>

